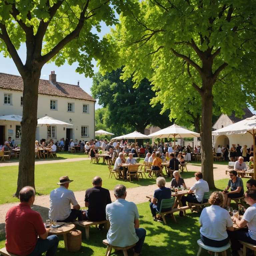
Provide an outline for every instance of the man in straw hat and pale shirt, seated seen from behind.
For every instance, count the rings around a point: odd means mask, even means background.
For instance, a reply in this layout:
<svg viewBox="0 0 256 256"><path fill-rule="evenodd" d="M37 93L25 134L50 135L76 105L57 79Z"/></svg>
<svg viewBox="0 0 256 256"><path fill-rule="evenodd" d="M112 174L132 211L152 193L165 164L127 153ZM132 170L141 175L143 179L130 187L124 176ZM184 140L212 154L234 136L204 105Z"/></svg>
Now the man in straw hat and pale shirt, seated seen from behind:
<svg viewBox="0 0 256 256"><path fill-rule="evenodd" d="M70 180L68 176L60 177L59 188L56 188L50 193L50 210L49 218L51 220L57 220L57 222L71 222L77 217L79 220L82 218L82 211L80 211L80 205L76 201L74 192L69 190ZM70 208L70 203L73 208Z"/></svg>

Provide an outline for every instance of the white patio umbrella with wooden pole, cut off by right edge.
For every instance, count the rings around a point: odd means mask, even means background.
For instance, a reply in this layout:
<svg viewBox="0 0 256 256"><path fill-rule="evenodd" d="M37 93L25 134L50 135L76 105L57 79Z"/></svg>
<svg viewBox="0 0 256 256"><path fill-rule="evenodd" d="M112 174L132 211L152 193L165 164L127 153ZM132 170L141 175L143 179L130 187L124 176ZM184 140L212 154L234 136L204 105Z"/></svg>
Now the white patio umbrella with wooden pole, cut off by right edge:
<svg viewBox="0 0 256 256"><path fill-rule="evenodd" d="M244 134L250 133L253 137L253 167L254 167L254 177L256 177L256 166L255 166L255 136L256 136L256 115L246 118L237 123L231 124L229 126L223 127L212 132L212 135L229 135L229 134Z"/></svg>

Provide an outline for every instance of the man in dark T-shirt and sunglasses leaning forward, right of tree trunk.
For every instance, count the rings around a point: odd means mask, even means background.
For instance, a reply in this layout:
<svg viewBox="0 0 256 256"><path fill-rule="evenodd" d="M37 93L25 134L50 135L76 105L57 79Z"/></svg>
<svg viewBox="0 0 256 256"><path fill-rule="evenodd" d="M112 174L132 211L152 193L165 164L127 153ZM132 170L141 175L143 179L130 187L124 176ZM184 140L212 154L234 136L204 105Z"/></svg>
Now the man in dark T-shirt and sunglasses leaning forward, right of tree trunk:
<svg viewBox="0 0 256 256"><path fill-rule="evenodd" d="M237 177L237 172L232 170L229 172L230 180L228 181L227 187L223 190L224 194L224 202L223 208L230 206L231 198L239 198L242 197L244 194L244 185L241 178ZM231 187L231 191L228 192L229 188Z"/></svg>

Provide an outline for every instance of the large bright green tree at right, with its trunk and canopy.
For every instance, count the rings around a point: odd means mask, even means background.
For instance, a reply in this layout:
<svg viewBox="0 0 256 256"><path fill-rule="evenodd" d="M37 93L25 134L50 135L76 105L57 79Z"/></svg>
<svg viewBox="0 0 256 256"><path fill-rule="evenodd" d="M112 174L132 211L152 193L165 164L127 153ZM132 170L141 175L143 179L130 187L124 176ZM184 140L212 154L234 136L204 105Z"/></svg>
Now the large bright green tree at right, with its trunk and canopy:
<svg viewBox="0 0 256 256"><path fill-rule="evenodd" d="M201 108L202 172L214 188L212 157L213 104L241 116L255 107L255 1L144 0L132 15L123 13L107 38L108 58L99 62L125 65L122 78L136 86L146 77L157 92L152 102L170 117L183 115L180 102L197 116ZM169 99L169 100L167 100ZM193 102L191 104L189 102ZM182 106L180 104L180 106ZM185 115L185 118L188 118Z"/></svg>

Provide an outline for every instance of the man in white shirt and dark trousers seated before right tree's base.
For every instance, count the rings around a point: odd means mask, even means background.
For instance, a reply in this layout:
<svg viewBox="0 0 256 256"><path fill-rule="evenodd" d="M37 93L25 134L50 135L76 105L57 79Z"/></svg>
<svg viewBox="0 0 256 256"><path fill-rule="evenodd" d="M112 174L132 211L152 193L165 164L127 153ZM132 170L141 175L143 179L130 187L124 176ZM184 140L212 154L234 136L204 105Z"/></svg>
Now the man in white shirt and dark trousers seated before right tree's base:
<svg viewBox="0 0 256 256"><path fill-rule="evenodd" d="M196 183L188 190L187 196L182 196L182 206L186 206L186 202L201 204L204 193L209 192L209 185L207 181L203 180L203 174L201 172L195 173ZM195 191L195 194L193 192ZM208 199L204 199L203 203L206 203ZM183 215L183 211L180 211L180 216Z"/></svg>

